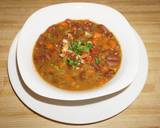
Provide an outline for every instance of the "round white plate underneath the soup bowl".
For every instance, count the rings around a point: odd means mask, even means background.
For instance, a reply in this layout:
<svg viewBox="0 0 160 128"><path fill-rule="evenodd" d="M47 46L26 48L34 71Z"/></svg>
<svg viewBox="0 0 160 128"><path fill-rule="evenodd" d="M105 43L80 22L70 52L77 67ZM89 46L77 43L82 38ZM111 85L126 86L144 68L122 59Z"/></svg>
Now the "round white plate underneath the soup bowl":
<svg viewBox="0 0 160 128"><path fill-rule="evenodd" d="M113 117L126 109L139 95L144 87L148 71L148 59L143 41L135 33L140 46L140 65L136 79L132 84L118 95L103 97L99 101L87 100L80 103L67 103L55 100L45 100L38 96L31 96L34 93L26 91L21 83L16 68L16 45L15 37L10 48L8 57L8 73L11 85L19 99L34 112L59 122L70 124L88 124L102 121ZM28 90L28 89L27 89ZM105 99L106 98L106 99ZM48 103L46 103L48 102ZM77 105L76 105L77 104ZM81 105L80 105L81 104Z"/></svg>

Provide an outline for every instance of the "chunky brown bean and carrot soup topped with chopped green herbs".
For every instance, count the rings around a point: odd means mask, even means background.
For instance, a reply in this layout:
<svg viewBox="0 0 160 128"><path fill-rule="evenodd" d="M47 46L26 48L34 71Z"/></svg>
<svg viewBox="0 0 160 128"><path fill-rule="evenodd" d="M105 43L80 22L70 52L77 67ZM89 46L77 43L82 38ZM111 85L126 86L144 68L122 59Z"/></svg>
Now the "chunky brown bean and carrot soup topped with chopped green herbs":
<svg viewBox="0 0 160 128"><path fill-rule="evenodd" d="M104 25L66 19L40 35L33 62L40 76L51 85L87 90L113 78L120 67L121 49Z"/></svg>

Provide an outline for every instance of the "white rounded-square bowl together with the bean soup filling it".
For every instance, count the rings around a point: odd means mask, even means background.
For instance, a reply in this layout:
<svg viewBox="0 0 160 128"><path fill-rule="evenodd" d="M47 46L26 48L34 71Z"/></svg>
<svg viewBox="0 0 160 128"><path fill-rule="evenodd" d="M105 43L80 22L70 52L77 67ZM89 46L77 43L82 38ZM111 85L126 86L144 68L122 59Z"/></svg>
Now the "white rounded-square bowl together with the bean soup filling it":
<svg viewBox="0 0 160 128"><path fill-rule="evenodd" d="M131 26L116 10L64 3L42 8L27 19L17 63L33 92L84 100L127 87L137 73L138 52Z"/></svg>

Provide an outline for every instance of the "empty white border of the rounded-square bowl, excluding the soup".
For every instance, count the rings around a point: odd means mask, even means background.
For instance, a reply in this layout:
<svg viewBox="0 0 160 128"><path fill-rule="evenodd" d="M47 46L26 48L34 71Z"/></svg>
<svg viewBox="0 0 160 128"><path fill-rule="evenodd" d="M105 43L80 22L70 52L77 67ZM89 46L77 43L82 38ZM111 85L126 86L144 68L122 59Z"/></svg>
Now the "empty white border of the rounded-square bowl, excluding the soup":
<svg viewBox="0 0 160 128"><path fill-rule="evenodd" d="M122 63L115 77L101 88L70 92L44 81L37 73L32 52L34 45L49 26L65 19L89 19L105 25L119 40ZM84 100L115 93L127 87L138 69L139 45L127 20L115 9L93 3L63 3L42 8L25 22L17 46L17 62L25 84L35 93L59 100Z"/></svg>

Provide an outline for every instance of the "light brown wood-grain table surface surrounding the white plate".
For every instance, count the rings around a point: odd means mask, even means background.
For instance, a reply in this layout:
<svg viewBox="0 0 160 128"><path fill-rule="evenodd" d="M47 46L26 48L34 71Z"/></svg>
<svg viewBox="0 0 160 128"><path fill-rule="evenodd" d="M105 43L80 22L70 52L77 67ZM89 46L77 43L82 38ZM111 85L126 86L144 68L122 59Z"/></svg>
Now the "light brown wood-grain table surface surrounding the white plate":
<svg viewBox="0 0 160 128"><path fill-rule="evenodd" d="M149 56L145 87L124 112L92 125L65 125L30 111L14 94L7 75L8 50L29 15L47 5L65 0L0 1L0 128L158 128L160 127L160 0L94 0L109 5L126 16L140 34ZM70 1L67 1L70 2ZM143 75L143 74L142 74Z"/></svg>

